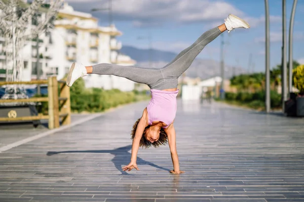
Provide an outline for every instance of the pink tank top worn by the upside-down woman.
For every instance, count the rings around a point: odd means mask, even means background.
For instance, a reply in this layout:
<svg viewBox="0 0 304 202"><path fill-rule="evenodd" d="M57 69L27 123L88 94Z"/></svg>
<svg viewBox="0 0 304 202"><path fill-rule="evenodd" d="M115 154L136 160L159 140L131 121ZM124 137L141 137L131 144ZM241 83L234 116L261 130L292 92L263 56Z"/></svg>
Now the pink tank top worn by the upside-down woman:
<svg viewBox="0 0 304 202"><path fill-rule="evenodd" d="M162 121L167 124L163 128L167 128L175 119L178 89L175 91L151 89L150 91L152 97L147 105L149 125L153 121Z"/></svg>

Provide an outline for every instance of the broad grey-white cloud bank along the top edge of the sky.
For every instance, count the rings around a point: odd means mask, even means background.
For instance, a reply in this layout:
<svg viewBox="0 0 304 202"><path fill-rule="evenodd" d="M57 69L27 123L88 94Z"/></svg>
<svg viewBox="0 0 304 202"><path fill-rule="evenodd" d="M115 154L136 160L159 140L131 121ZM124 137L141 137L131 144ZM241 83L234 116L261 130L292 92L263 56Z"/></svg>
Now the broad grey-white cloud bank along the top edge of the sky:
<svg viewBox="0 0 304 202"><path fill-rule="evenodd" d="M90 12L92 8L107 8L108 0L66 0L77 11ZM113 0L115 21L131 21L136 27L161 26L163 23L205 22L223 23L230 13L244 18L251 27L263 22L263 17L246 16L241 10L224 1L215 0ZM91 12L92 13L92 12ZM108 11L93 12L94 16L107 20ZM272 20L278 17L272 16Z"/></svg>

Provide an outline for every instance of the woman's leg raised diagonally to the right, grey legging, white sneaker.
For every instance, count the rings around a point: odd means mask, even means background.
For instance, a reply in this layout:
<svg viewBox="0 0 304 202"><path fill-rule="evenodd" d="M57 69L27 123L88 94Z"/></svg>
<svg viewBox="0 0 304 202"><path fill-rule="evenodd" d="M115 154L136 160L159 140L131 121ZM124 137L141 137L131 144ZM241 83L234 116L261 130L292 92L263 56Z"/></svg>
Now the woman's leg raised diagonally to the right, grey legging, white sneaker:
<svg viewBox="0 0 304 202"><path fill-rule="evenodd" d="M246 28L250 26L244 20L229 15L225 23L203 33L191 46L184 49L177 57L168 65L162 68L164 78L179 77L192 64L194 59L201 53L203 48L218 37L222 32L229 32L235 28Z"/></svg>

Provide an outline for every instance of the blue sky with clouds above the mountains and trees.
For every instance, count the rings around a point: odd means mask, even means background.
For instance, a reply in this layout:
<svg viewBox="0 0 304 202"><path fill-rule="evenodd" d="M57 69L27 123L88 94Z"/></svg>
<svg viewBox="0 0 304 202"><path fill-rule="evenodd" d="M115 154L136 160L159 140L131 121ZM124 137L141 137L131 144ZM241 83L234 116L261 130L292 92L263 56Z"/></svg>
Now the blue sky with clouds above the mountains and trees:
<svg viewBox="0 0 304 202"><path fill-rule="evenodd" d="M255 71L264 71L264 1L263 0L112 0L113 22L123 32L118 37L123 45L148 47L150 35L155 49L179 53L191 45L204 31L224 22L229 13L251 25L248 30L223 33L225 64L248 69L252 55ZM108 0L67 0L75 10L89 12L106 8ZM282 1L269 0L271 15L271 67L281 63ZM287 45L292 0L286 1ZM92 12L91 12L92 13ZM107 11L94 12L100 25L108 25ZM304 63L304 1L299 0L295 14L293 58ZM145 37L138 40L138 37ZM288 47L288 46L287 46ZM209 43L198 56L219 61L220 37ZM288 53L288 48L287 48ZM288 60L288 57L287 57Z"/></svg>

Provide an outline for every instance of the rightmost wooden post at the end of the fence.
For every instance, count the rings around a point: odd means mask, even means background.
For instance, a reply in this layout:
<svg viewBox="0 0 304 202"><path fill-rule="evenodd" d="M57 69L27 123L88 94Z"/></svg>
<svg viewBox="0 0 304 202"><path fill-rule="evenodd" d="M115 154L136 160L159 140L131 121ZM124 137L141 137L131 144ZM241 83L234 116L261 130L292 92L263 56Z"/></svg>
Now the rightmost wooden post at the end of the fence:
<svg viewBox="0 0 304 202"><path fill-rule="evenodd" d="M67 98L60 110L62 114L67 114L62 120L62 125L69 125L71 123L70 88L65 83L62 84L60 97Z"/></svg>

